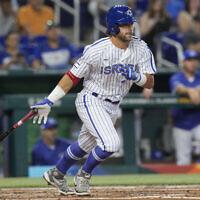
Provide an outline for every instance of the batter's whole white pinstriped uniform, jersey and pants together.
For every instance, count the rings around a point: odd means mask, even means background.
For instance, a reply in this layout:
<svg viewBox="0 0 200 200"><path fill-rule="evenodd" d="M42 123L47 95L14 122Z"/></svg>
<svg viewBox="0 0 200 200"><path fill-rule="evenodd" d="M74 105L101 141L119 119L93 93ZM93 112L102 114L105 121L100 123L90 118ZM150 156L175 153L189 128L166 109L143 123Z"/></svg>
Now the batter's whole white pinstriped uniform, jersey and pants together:
<svg viewBox="0 0 200 200"><path fill-rule="evenodd" d="M121 82L124 76L120 67L126 65L141 73L156 72L151 51L145 42L135 37L126 50L117 48L108 37L98 40L85 48L83 56L70 70L74 76L84 77L84 88L77 96L76 109L83 121L78 142L86 152L96 145L108 152L120 149L114 128L119 104L106 99L121 101L131 88L133 81ZM98 96L94 96L93 92Z"/></svg>

